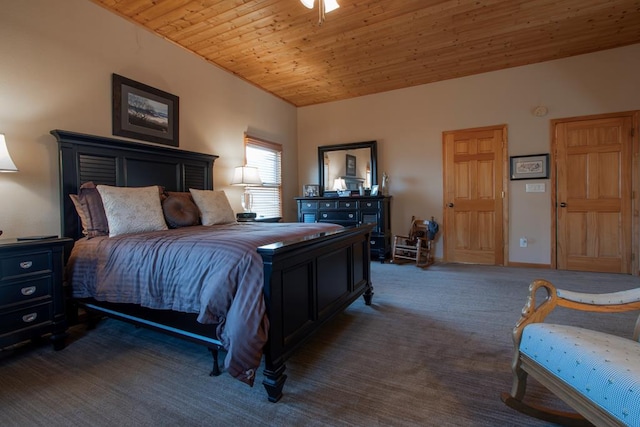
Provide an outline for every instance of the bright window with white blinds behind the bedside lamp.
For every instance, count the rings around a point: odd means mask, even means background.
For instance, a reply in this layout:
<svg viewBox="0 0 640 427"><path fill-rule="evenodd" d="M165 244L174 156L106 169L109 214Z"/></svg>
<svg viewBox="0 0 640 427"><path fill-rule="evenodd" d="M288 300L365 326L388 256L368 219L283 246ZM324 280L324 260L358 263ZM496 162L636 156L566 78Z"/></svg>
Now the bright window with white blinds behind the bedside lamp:
<svg viewBox="0 0 640 427"><path fill-rule="evenodd" d="M258 218L282 216L282 145L244 136L247 166L260 171L262 187L251 187L253 206Z"/></svg>

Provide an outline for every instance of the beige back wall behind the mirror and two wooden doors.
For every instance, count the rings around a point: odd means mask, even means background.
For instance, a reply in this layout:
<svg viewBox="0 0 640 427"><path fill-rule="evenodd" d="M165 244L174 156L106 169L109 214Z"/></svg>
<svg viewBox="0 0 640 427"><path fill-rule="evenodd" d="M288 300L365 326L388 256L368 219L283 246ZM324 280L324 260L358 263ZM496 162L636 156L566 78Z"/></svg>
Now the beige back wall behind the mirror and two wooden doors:
<svg viewBox="0 0 640 427"><path fill-rule="evenodd" d="M508 126L508 154L548 153L551 119L640 109L640 44L298 109L300 185L318 181L317 147L378 141L390 176L392 230L412 215L442 221L442 132ZM537 105L549 114L535 117ZM547 192L525 193L526 182ZM510 262L551 262L549 180L509 184ZM520 237L528 247L519 247ZM442 244L437 244L442 256Z"/></svg>

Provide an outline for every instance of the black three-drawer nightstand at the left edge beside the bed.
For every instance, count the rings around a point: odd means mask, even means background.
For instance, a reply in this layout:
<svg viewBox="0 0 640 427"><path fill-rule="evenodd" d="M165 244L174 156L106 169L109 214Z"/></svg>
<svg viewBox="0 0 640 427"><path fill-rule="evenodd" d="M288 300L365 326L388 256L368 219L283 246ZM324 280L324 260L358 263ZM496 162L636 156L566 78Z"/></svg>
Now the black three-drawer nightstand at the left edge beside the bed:
<svg viewBox="0 0 640 427"><path fill-rule="evenodd" d="M63 270L72 239L0 240L0 348L51 334L65 346Z"/></svg>

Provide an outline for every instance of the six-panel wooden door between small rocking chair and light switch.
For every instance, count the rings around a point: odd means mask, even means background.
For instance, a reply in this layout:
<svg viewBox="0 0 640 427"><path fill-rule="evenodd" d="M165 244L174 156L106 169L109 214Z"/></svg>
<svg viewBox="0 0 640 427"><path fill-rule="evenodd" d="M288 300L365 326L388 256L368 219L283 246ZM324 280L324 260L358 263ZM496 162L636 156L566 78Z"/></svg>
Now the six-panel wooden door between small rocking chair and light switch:
<svg viewBox="0 0 640 427"><path fill-rule="evenodd" d="M504 265L506 126L444 132L444 257Z"/></svg>

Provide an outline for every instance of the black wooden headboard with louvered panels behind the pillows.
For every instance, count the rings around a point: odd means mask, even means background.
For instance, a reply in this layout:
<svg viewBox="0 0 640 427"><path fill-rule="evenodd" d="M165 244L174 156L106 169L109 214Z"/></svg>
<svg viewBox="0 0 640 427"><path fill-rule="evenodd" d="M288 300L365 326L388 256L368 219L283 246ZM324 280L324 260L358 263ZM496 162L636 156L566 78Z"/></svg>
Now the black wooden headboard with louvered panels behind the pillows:
<svg viewBox="0 0 640 427"><path fill-rule="evenodd" d="M94 135L52 130L58 140L62 235L82 237L70 194L88 181L119 187L162 185L167 191L213 190L218 156Z"/></svg>

